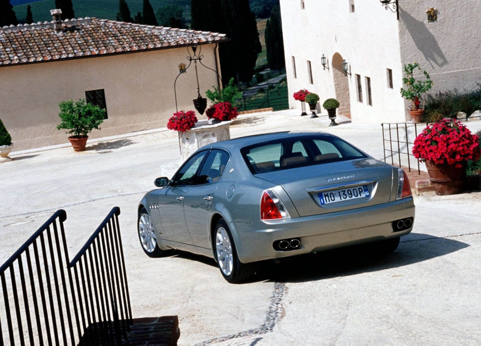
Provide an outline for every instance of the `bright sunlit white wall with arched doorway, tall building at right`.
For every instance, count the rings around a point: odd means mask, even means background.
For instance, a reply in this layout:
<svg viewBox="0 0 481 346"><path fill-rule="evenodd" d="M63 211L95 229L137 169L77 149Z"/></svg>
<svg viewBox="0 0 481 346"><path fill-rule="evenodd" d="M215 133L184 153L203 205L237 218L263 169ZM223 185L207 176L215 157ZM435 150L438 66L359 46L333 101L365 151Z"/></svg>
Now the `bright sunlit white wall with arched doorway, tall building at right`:
<svg viewBox="0 0 481 346"><path fill-rule="evenodd" d="M350 4L354 2L355 11ZM296 0L280 0L290 106L300 108L294 91L307 88L325 99L336 97L332 57L337 52L349 63L351 117L357 123L405 121L401 52L396 14L379 1L305 0L305 9ZM321 56L328 58L323 70ZM293 76L295 57L297 78ZM312 64L314 85L309 84L307 63ZM393 88L388 87L387 69L392 70ZM357 99L355 74L361 75L363 102ZM367 105L365 77L371 78L372 106ZM338 82L339 85L339 82ZM325 112L325 111L324 111Z"/></svg>

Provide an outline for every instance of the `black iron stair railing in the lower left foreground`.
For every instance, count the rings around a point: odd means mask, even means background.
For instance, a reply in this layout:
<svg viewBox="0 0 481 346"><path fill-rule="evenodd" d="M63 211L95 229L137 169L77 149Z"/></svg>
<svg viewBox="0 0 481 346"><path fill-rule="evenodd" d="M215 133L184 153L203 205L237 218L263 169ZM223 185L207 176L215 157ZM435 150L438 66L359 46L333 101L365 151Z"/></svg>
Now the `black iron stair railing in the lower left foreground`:
<svg viewBox="0 0 481 346"><path fill-rule="evenodd" d="M121 344L132 313L119 214L69 261L58 210L0 267L0 346Z"/></svg>

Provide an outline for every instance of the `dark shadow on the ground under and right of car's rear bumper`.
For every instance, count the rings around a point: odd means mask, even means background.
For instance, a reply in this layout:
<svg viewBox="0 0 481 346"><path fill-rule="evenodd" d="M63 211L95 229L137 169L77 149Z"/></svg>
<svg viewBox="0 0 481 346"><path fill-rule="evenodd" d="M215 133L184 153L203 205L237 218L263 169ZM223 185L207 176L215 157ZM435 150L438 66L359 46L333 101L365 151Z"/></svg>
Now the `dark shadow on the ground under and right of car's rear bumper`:
<svg viewBox="0 0 481 346"><path fill-rule="evenodd" d="M430 260L468 246L449 238L413 233L402 237L390 255L382 255L366 244L294 256L277 264L265 261L259 263L255 281L306 282L375 272Z"/></svg>

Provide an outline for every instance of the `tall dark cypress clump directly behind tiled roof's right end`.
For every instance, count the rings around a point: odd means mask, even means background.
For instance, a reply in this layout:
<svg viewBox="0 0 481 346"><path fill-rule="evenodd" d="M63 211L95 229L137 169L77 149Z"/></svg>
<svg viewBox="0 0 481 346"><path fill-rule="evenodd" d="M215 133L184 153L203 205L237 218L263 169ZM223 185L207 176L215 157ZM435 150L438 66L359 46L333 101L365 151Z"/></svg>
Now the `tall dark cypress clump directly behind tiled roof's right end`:
<svg viewBox="0 0 481 346"><path fill-rule="evenodd" d="M234 77L252 79L262 47L249 0L192 0L191 28L227 34L230 42L219 45L223 84Z"/></svg>

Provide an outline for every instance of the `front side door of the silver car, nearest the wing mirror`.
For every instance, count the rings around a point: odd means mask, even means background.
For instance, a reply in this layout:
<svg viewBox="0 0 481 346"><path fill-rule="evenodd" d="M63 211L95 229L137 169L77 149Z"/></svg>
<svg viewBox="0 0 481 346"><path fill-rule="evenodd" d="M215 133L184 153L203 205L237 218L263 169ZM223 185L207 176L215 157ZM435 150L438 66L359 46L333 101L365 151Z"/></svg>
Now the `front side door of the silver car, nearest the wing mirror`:
<svg viewBox="0 0 481 346"><path fill-rule="evenodd" d="M159 196L160 221L168 239L193 245L184 217L184 198L190 188L196 184L199 170L208 150L198 152L191 157L174 176Z"/></svg>

